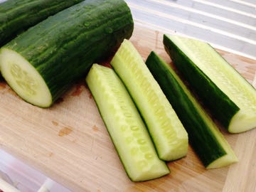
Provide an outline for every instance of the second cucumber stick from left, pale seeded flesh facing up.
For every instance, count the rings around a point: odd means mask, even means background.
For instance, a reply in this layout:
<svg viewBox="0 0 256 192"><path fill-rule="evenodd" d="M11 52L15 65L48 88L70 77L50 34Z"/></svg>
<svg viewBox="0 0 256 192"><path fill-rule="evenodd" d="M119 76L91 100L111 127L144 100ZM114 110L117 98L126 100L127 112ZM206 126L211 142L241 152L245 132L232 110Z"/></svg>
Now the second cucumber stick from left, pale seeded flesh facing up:
<svg viewBox="0 0 256 192"><path fill-rule="evenodd" d="M110 64L124 82L149 129L159 158L186 156L188 134L133 44L124 39Z"/></svg>

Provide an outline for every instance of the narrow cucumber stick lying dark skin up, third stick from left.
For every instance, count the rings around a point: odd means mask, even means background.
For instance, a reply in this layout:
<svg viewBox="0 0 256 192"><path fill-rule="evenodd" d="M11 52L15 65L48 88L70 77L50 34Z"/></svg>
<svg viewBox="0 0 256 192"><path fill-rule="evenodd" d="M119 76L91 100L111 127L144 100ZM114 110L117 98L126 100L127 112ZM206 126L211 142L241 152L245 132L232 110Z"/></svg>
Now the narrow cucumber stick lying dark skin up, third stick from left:
<svg viewBox="0 0 256 192"><path fill-rule="evenodd" d="M237 162L238 158L223 134L170 65L154 52L149 54L146 65L181 119L189 143L203 165L215 169Z"/></svg>

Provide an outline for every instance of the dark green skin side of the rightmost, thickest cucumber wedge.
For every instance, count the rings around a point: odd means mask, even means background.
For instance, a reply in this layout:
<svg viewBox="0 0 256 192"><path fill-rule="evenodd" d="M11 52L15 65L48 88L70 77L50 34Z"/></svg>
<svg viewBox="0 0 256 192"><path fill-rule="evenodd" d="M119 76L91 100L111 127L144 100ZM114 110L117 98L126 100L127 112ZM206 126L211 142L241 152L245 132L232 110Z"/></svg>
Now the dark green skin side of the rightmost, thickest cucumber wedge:
<svg viewBox="0 0 256 192"><path fill-rule="evenodd" d="M230 120L240 110L215 83L180 50L168 36L164 35L164 48L174 62L178 72L208 107L215 119L228 129Z"/></svg>

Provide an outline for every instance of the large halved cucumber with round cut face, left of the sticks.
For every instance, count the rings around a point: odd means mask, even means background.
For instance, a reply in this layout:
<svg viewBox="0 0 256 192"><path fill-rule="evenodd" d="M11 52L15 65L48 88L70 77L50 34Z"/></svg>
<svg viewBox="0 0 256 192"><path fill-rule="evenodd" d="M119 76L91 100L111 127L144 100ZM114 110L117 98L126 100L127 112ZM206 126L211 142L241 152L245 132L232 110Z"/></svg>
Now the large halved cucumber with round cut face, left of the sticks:
<svg viewBox="0 0 256 192"><path fill-rule="evenodd" d="M92 63L113 54L132 36L133 27L124 1L82 1L1 48L1 73L23 100L50 107Z"/></svg>

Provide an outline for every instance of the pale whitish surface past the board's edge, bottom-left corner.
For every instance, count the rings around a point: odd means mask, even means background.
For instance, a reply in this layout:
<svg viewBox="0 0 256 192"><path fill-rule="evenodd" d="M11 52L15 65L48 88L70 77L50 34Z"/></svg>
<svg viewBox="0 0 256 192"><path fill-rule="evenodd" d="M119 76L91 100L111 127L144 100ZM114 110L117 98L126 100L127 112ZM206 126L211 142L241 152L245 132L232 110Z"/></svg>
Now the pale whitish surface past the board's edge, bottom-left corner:
<svg viewBox="0 0 256 192"><path fill-rule="evenodd" d="M4 188L6 188L4 190ZM8 188L8 189L7 189ZM14 156L0 149L0 191L12 192L70 192Z"/></svg>

